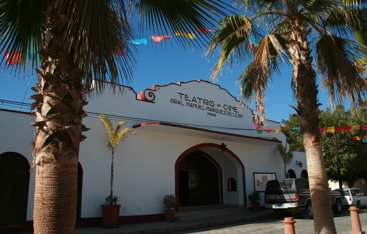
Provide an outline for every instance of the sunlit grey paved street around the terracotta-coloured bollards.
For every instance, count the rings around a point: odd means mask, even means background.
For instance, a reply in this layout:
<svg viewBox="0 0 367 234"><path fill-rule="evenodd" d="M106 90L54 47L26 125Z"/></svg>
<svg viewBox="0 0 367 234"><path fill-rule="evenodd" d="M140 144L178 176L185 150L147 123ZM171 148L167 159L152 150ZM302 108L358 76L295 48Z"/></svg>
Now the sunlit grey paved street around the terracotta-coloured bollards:
<svg viewBox="0 0 367 234"><path fill-rule="evenodd" d="M367 209L360 211L359 219L362 230L367 231ZM298 234L314 234L313 220L295 219L295 231ZM237 223L225 225L221 227L205 228L200 230L191 230L184 232L176 232L175 234L284 234L284 224L282 220L271 218L257 222ZM348 210L343 210L340 215L334 216L335 227L338 234L349 234L352 231L352 224Z"/></svg>

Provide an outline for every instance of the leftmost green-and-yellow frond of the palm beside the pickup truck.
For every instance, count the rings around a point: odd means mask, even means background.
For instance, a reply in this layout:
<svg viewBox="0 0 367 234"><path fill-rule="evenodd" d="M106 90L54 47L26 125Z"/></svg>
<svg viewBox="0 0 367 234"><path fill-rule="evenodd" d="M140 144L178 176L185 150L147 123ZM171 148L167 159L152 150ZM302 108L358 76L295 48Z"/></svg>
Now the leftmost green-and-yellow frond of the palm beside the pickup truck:
<svg viewBox="0 0 367 234"><path fill-rule="evenodd" d="M251 18L243 15L231 15L219 21L219 28L215 32L206 55L210 58L220 47L220 56L212 69L211 79L216 80L223 67L229 62L232 68L233 61L244 62L252 51L248 46L251 37L258 39L256 26Z"/></svg>

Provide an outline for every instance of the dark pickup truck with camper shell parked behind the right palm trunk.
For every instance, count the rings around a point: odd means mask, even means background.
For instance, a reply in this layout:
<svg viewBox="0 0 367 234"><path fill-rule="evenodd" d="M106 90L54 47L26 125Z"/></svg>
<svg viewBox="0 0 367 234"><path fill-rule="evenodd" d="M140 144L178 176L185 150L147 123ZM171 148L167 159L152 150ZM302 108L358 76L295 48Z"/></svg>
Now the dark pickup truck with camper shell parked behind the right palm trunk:
<svg viewBox="0 0 367 234"><path fill-rule="evenodd" d="M339 192L330 191L333 212L342 212L342 200ZM305 219L312 219L312 205L308 179L269 180L265 189L265 208L273 208L276 216L286 212L302 212Z"/></svg>

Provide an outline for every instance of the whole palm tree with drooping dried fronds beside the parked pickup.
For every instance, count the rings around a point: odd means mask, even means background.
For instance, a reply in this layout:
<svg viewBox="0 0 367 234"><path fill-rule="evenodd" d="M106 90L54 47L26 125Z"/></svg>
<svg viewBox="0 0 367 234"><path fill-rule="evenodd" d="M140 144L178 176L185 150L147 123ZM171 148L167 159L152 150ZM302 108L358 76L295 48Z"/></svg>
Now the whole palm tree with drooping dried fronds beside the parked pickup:
<svg viewBox="0 0 367 234"><path fill-rule="evenodd" d="M207 55L219 48L220 55L212 71L216 79L227 63L246 61L255 55L238 78L241 99L250 104L255 98L261 116L265 116L265 89L273 74L281 73L281 64L293 67L291 87L297 106L293 108L301 124L304 139L315 233L336 233L330 194L320 147L318 86L316 76L330 95L332 103L348 97L358 105L363 67L356 63L361 55L355 30L366 32L366 0L242 0L251 16L231 15L220 20ZM255 49L248 46L254 39ZM255 52L253 54L253 52ZM316 63L313 63L316 56ZM315 69L316 68L316 69ZM318 73L316 73L316 71Z"/></svg>

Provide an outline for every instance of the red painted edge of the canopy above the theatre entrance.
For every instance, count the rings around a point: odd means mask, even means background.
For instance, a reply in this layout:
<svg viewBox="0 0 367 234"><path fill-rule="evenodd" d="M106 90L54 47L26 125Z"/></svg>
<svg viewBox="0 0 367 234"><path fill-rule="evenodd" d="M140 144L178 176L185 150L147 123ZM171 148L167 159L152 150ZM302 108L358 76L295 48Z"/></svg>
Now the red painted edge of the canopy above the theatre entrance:
<svg viewBox="0 0 367 234"><path fill-rule="evenodd" d="M190 127L190 126L179 125L179 124L168 124L168 123L163 123L163 122L145 122L145 123L133 125L132 128L138 128L138 127L142 127L142 126L145 126L145 125L163 125L163 126L170 126L170 127L177 127L177 128L186 128L186 129L192 129L192 130L197 130L197 131L202 131L202 132L222 134L222 135L227 135L227 136L236 136L236 137L241 137L241 138L248 138L248 139L255 139L255 140L265 140L265 141L269 141L269 142L281 143L280 140L267 139L267 138L262 138L262 137L257 137L257 136L239 135L239 134L228 133L228 132L219 132L219 131L214 131L214 130L209 130L209 129L196 128L196 127Z"/></svg>

